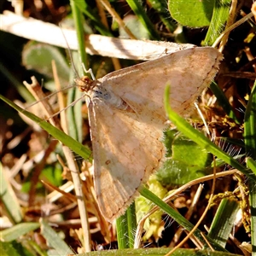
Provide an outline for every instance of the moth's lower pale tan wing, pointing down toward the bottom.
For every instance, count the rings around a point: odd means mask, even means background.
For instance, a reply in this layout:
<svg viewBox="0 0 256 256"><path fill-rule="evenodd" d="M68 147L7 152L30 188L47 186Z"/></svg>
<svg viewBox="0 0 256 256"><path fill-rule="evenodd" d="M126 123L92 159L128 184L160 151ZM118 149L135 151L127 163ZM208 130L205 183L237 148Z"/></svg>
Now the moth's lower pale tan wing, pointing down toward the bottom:
<svg viewBox="0 0 256 256"><path fill-rule="evenodd" d="M160 141L166 125L150 124L146 117L109 108L98 99L90 102L89 114L96 198L102 215L112 222L159 168L165 157Z"/></svg>

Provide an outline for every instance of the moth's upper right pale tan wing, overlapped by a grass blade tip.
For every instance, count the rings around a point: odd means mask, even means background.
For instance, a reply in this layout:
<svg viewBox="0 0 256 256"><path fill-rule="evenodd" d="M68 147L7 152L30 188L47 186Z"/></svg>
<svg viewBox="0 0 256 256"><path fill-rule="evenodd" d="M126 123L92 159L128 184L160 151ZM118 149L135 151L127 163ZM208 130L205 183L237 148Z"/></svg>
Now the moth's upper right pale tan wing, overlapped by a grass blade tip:
<svg viewBox="0 0 256 256"><path fill-rule="evenodd" d="M99 80L103 87L112 90L138 113L151 112L165 119L163 95L166 84L171 85L173 110L184 115L202 90L210 85L221 60L222 55L217 49L195 47L120 69Z"/></svg>

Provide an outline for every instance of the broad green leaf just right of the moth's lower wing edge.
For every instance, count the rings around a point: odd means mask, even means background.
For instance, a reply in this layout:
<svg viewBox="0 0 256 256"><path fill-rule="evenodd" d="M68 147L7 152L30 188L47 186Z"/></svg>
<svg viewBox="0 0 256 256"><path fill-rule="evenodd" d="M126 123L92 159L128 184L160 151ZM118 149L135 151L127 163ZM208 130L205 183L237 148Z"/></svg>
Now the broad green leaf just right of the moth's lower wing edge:
<svg viewBox="0 0 256 256"><path fill-rule="evenodd" d="M166 131L166 148L169 158L157 172L160 183L183 185L198 177L209 174L212 154L177 131Z"/></svg>

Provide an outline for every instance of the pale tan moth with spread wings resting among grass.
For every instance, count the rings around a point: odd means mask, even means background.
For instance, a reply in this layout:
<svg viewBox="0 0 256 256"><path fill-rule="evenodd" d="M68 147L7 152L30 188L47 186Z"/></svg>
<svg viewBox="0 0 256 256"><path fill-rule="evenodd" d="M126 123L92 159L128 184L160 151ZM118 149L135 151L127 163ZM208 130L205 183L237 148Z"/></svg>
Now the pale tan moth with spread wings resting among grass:
<svg viewBox="0 0 256 256"><path fill-rule="evenodd" d="M122 215L138 188L165 160L163 97L184 115L217 73L222 55L211 47L183 49L109 73L77 80L87 97L96 199L109 221Z"/></svg>

